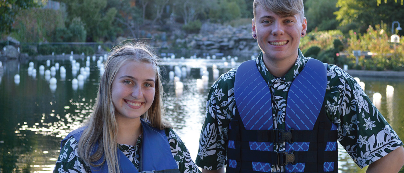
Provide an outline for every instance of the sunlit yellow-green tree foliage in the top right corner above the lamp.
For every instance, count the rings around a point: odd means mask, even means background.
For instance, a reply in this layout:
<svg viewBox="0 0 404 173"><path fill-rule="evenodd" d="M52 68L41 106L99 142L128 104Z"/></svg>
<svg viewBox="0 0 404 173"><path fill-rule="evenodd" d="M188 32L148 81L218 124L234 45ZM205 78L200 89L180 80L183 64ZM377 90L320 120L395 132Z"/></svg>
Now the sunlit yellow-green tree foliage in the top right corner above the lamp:
<svg viewBox="0 0 404 173"><path fill-rule="evenodd" d="M391 23L395 20L404 18L404 8L397 0L338 0L336 6L339 11L337 20L341 21L340 25L354 24L361 33L366 32L369 25L375 26L384 23Z"/></svg>

